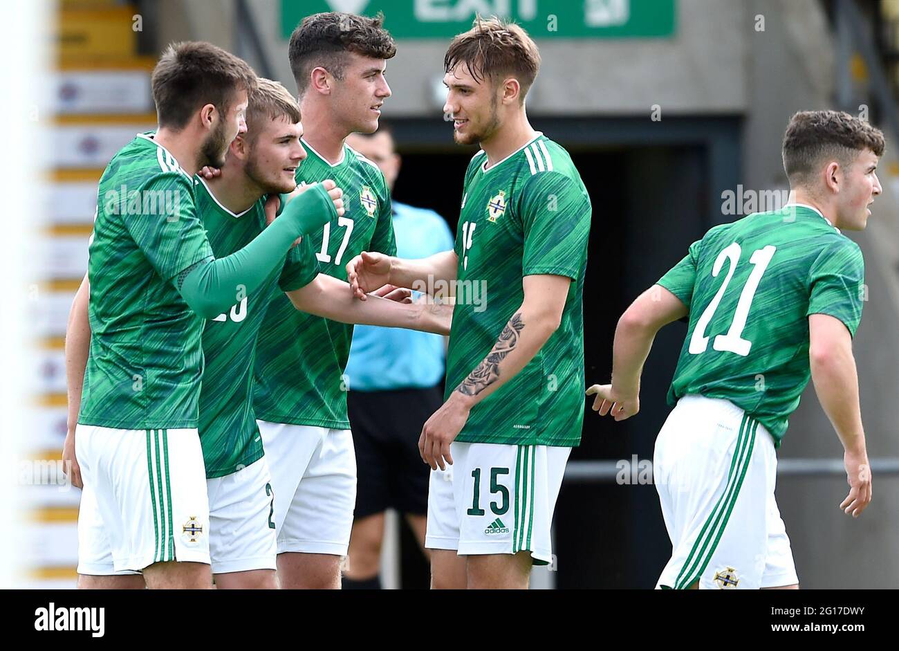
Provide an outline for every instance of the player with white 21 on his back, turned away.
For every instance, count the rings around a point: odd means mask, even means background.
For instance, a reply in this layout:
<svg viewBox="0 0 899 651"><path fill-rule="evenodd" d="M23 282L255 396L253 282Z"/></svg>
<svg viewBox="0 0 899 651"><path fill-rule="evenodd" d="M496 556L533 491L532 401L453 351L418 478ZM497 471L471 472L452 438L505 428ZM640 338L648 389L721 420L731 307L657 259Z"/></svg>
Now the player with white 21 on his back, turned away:
<svg viewBox="0 0 899 651"><path fill-rule="evenodd" d="M619 319L612 382L587 390L620 421L639 410L658 330L689 319L655 442L672 557L660 588L797 588L774 499L776 448L809 378L845 450L858 517L871 500L852 337L865 295L861 230L881 192L883 134L847 113L803 111L783 142L790 202L712 228Z"/></svg>

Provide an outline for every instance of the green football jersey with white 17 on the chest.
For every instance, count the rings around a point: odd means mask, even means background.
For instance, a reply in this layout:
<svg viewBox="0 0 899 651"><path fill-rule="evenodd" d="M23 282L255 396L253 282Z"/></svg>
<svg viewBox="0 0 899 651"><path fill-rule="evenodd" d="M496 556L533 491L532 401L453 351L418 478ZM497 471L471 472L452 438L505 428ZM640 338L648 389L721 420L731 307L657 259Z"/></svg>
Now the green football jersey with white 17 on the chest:
<svg viewBox="0 0 899 651"><path fill-rule="evenodd" d="M352 148L329 164L304 141L297 183L333 179L343 189L343 217L307 235L319 271L346 280L346 263L362 251L396 254L390 193L384 175ZM256 417L272 423L349 429L343 377L352 326L298 312L283 294L271 299L256 351Z"/></svg>

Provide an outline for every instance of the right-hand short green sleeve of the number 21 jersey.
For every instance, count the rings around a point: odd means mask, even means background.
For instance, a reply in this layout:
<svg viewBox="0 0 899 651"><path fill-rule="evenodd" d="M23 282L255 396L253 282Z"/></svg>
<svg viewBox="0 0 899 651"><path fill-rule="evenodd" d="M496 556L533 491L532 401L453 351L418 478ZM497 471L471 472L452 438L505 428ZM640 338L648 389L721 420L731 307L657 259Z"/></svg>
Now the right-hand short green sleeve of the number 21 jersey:
<svg viewBox="0 0 899 651"><path fill-rule="evenodd" d="M810 296L806 316L826 314L840 319L854 337L861 320L865 261L850 240L824 249L809 272Z"/></svg>

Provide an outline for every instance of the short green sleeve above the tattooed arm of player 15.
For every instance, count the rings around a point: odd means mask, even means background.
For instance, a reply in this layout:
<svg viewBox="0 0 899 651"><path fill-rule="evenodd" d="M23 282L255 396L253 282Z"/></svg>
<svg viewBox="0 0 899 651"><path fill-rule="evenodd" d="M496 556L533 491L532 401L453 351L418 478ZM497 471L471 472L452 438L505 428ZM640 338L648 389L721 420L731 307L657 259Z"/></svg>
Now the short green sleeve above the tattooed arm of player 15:
<svg viewBox="0 0 899 651"><path fill-rule="evenodd" d="M534 174L519 200L524 231L522 275L551 273L577 280L590 236L590 199L560 172Z"/></svg>

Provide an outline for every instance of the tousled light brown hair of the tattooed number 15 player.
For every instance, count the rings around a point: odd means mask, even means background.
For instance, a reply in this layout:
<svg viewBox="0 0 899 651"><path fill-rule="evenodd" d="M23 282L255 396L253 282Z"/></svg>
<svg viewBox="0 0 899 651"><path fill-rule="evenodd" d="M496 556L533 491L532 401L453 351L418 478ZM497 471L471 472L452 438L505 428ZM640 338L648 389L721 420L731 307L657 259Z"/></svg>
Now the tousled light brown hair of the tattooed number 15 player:
<svg viewBox="0 0 899 651"><path fill-rule="evenodd" d="M470 30L458 34L449 43L443 69L449 72L460 63L467 65L478 82L489 77L495 84L507 76L514 76L521 85L523 102L537 78L540 53L537 44L520 25L496 16L487 19L478 16Z"/></svg>

